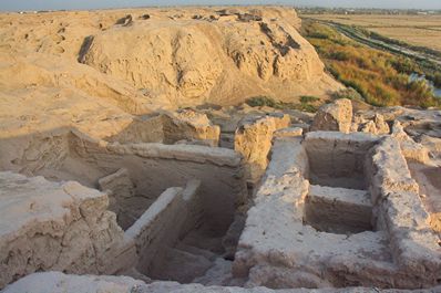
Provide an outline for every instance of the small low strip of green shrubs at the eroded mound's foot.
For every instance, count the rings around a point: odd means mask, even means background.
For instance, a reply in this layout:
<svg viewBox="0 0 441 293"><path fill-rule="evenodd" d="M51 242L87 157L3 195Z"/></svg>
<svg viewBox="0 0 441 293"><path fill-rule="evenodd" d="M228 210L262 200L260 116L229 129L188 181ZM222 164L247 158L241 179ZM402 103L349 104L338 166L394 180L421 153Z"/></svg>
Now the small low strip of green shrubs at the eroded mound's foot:
<svg viewBox="0 0 441 293"><path fill-rule="evenodd" d="M300 104L296 104L296 103L286 103L281 101L276 101L273 97L267 97L267 96L255 96L248 98L245 103L252 107L267 106L276 109L298 109L298 111L315 113L317 112L318 107L310 103L318 102L320 98L315 96L301 96Z"/></svg>

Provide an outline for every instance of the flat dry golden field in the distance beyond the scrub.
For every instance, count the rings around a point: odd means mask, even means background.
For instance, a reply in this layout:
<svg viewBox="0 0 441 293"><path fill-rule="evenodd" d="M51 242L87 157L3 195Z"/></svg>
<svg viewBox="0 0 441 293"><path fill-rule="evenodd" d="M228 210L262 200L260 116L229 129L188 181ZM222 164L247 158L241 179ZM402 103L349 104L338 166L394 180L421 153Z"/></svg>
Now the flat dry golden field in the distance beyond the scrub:
<svg viewBox="0 0 441 293"><path fill-rule="evenodd" d="M302 14L301 17L355 24L412 45L441 51L441 15Z"/></svg>

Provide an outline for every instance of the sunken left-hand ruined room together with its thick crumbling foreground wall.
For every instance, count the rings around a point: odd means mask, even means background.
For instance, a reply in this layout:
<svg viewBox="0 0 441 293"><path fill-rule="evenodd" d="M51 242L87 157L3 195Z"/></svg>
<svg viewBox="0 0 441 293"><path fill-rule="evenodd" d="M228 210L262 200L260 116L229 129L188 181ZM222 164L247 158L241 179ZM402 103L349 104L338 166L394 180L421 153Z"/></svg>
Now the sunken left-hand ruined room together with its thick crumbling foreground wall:
<svg viewBox="0 0 441 293"><path fill-rule="evenodd" d="M0 172L1 286L40 270L191 282L230 249L228 229L247 200L242 158L229 149L65 132L21 151L22 172L84 186Z"/></svg>

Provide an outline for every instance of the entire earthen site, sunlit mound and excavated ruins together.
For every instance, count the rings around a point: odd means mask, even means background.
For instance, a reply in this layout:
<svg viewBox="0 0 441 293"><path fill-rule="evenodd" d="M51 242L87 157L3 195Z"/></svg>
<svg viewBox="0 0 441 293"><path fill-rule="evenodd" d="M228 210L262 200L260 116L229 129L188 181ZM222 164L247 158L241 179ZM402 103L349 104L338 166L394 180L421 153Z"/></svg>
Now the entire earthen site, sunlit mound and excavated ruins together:
<svg viewBox="0 0 441 293"><path fill-rule="evenodd" d="M439 111L237 105L340 88L294 10L25 17L0 19L2 293L441 292Z"/></svg>

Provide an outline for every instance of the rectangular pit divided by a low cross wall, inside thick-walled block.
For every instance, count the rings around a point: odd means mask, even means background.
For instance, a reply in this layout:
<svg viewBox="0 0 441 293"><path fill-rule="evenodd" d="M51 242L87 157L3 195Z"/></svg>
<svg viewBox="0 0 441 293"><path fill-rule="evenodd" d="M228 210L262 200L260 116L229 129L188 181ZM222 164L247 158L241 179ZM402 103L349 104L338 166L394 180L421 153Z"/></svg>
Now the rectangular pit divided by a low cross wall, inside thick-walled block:
<svg viewBox="0 0 441 293"><path fill-rule="evenodd" d="M306 144L310 188L305 222L318 231L353 234L373 231L372 202L366 181L367 155L372 144L338 146L332 142Z"/></svg>

